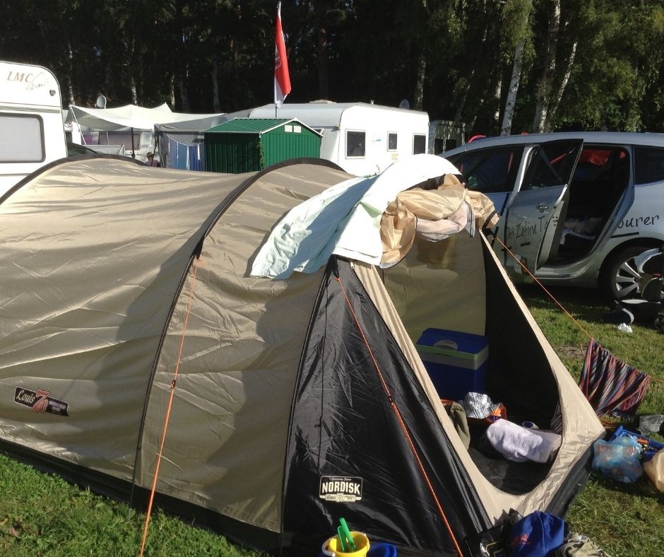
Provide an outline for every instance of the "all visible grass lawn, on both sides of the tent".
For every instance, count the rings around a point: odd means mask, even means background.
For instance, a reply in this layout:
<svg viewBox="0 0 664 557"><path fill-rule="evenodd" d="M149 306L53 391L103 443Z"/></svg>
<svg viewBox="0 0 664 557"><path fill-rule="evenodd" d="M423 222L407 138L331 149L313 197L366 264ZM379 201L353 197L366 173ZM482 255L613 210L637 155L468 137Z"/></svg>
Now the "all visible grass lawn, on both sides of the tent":
<svg viewBox="0 0 664 557"><path fill-rule="evenodd" d="M634 325L634 332L627 334L604 324L601 315L606 307L593 292L552 291L577 319L576 324L540 288L528 286L520 291L576 380L588 344L587 333L617 358L653 377L639 414L664 414L662 334ZM622 423L628 429L636 428L636 423ZM0 455L0 493L2 556L138 555L144 516L124 503L95 496L4 455ZM612 557L664 553L664 495L645 476L625 484L593 472L572 505L567 522L572 531L586 534ZM145 555L255 557L258 553L153 512Z"/></svg>

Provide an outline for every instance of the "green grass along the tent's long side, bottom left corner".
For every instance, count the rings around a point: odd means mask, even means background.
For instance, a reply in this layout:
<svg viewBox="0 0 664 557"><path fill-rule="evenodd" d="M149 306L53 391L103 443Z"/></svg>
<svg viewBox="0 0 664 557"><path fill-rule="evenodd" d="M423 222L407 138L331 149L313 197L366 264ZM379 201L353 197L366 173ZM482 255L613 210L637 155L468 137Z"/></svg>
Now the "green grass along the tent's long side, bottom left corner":
<svg viewBox="0 0 664 557"><path fill-rule="evenodd" d="M0 555L6 557L136 556L145 515L124 503L72 486L0 455ZM260 553L168 517L150 517L146 557L247 557Z"/></svg>

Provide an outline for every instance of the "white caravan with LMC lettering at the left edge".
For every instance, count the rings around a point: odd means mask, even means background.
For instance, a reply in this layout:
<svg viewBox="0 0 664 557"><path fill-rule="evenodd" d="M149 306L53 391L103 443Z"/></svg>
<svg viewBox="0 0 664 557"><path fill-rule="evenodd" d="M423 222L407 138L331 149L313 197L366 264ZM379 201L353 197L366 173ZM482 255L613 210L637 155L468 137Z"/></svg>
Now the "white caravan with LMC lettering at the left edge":
<svg viewBox="0 0 664 557"><path fill-rule="evenodd" d="M66 156L55 76L41 66L0 61L0 198L37 168Z"/></svg>

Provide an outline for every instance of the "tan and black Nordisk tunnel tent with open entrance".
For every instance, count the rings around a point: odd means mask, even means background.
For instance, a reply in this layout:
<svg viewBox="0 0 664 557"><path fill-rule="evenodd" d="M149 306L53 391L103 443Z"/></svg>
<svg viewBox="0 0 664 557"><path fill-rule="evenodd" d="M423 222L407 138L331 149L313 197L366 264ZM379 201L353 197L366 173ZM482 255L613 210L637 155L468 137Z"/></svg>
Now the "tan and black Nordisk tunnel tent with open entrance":
<svg viewBox="0 0 664 557"><path fill-rule="evenodd" d="M244 546L315 554L345 517L400 555L470 554L510 509L564 514L603 428L482 231L389 268L251 275L289 211L376 179L90 158L20 182L0 199L1 449L144 510L173 394L156 502ZM416 348L431 327L488 339L487 394L562 435L555 458L464 445Z"/></svg>

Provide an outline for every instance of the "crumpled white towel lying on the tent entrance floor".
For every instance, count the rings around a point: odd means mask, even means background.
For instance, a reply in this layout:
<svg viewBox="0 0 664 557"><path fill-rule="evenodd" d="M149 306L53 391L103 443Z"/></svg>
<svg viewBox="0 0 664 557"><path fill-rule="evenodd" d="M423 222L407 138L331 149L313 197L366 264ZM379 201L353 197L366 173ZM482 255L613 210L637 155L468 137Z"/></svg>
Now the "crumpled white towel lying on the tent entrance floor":
<svg viewBox="0 0 664 557"><path fill-rule="evenodd" d="M507 420L494 421L487 428L491 445L513 462L547 462L560 448L557 433L528 429Z"/></svg>

